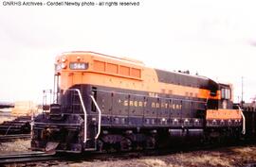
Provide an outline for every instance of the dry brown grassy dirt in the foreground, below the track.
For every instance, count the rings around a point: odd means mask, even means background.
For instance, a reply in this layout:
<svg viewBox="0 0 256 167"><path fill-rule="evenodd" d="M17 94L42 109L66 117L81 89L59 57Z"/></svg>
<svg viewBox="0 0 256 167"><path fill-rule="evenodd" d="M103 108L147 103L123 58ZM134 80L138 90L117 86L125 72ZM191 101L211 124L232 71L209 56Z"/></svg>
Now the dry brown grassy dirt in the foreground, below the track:
<svg viewBox="0 0 256 167"><path fill-rule="evenodd" d="M135 159L96 160L91 162L83 161L79 163L67 162L64 165L72 167L232 167L253 166L253 164L256 166L256 145L221 148L211 151L175 153L165 156L141 157Z"/></svg>

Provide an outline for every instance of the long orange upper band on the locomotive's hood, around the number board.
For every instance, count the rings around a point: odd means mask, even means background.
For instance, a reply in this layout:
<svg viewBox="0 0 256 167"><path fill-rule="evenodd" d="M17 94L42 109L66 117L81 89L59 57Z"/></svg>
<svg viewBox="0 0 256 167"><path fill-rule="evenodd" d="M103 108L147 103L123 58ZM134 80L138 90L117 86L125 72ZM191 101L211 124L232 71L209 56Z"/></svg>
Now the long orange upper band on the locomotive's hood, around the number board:
<svg viewBox="0 0 256 167"><path fill-rule="evenodd" d="M86 70L71 70L69 62L86 62ZM172 93L205 99L220 99L220 92L210 96L210 91L158 82L155 69L145 67L140 61L128 58L115 58L93 52L64 53L56 58L56 64L67 64L65 69L56 71L61 76L61 89L66 90L75 84L91 84L142 92Z"/></svg>

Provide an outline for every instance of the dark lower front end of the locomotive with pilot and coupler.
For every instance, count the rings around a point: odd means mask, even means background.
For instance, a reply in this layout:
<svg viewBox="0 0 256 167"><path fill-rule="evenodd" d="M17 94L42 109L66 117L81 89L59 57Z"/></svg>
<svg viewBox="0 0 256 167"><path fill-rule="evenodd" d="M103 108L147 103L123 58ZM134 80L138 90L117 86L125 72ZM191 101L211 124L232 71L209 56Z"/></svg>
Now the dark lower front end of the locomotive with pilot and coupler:
<svg viewBox="0 0 256 167"><path fill-rule="evenodd" d="M82 136L80 135L83 130L82 124L83 120L80 115L66 115L64 120L52 120L50 116L38 116L33 126L31 148L46 152L80 153L82 152Z"/></svg>

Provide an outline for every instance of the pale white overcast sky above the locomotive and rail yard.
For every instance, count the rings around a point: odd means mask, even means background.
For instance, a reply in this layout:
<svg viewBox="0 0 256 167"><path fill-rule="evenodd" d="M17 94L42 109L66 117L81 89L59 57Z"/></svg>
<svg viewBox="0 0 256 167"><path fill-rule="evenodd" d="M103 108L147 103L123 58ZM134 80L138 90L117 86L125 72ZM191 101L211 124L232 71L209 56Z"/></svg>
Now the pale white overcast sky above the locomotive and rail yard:
<svg viewBox="0 0 256 167"><path fill-rule="evenodd" d="M43 90L53 88L54 59L66 51L190 70L233 84L235 101L241 100L243 77L244 99L256 95L256 2L137 0L138 7L13 7L4 2L0 101L42 101Z"/></svg>

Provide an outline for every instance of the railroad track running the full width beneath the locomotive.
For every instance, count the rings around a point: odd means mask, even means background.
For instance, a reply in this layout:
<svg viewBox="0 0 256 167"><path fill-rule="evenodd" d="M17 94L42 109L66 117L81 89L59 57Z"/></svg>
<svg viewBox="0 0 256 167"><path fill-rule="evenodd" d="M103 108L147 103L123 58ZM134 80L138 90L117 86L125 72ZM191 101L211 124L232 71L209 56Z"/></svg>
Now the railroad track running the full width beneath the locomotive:
<svg viewBox="0 0 256 167"><path fill-rule="evenodd" d="M182 149L180 146L176 146L171 149L160 149L160 150L137 150L137 151L128 151L128 152L94 152L94 153L82 153L78 155L70 155L68 153L46 153L46 152L27 152L27 153L20 153L20 154L10 154L10 155L2 155L0 156L0 166L1 164L10 164L10 163L29 163L34 161L50 161L50 160L64 160L64 161L91 161L91 160L118 160L118 159L137 159L140 157L148 157L148 156L163 156L169 154L175 154L179 152L192 152L198 150L215 150L215 149L222 149L229 146L243 146L255 144L255 141L250 142L236 142L229 143L229 144L217 144L217 145L205 145L205 146L188 146L183 145Z"/></svg>

